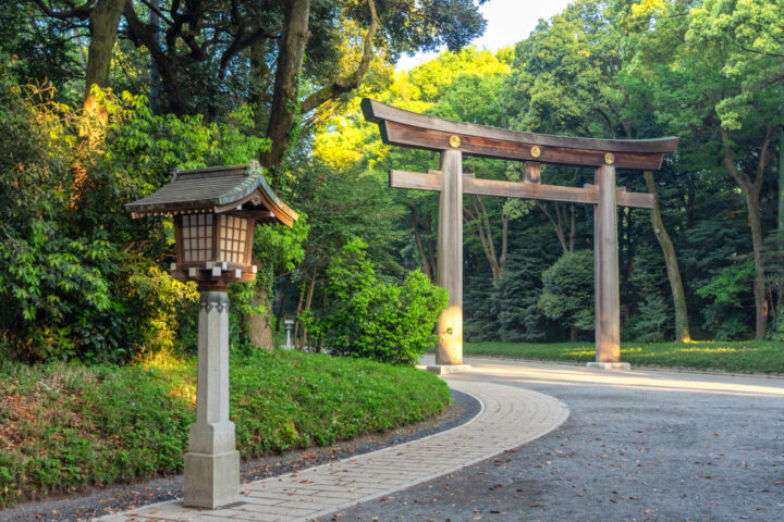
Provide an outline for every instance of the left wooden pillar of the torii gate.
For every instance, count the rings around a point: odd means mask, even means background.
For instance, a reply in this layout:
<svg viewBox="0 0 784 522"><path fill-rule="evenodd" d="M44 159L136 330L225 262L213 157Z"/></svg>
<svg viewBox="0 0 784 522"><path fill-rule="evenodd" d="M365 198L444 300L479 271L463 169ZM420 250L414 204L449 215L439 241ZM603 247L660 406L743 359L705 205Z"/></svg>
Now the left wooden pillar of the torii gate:
<svg viewBox="0 0 784 522"><path fill-rule="evenodd" d="M450 300L438 322L437 373L465 370L463 364L463 153L441 152L437 283Z"/></svg>

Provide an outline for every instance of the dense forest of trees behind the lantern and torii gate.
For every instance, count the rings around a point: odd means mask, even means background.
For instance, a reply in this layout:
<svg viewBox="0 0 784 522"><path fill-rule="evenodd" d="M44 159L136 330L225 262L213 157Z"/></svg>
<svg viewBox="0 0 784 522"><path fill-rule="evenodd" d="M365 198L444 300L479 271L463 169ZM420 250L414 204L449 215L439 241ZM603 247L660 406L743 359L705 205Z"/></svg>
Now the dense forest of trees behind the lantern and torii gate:
<svg viewBox="0 0 784 522"><path fill-rule="evenodd" d="M618 211L623 338L782 339L784 2L579 0L494 53L467 47L485 27L477 3L11 2L0 350L99 362L193 350L196 290L166 272L171 222L122 208L176 166L258 159L304 216L257 234L262 276L232 289L235 344L270 346L291 313L298 346L320 346L340 306L330 264L357 238L381 282L432 279L437 196L392 190L387 173L436 169L438 154L382 145L363 97L517 130L678 136L660 172L618 172L659 203ZM520 176L514 162L465 165ZM542 176L592 183L589 170ZM590 338L592 208L466 197L464 209L466 338Z"/></svg>

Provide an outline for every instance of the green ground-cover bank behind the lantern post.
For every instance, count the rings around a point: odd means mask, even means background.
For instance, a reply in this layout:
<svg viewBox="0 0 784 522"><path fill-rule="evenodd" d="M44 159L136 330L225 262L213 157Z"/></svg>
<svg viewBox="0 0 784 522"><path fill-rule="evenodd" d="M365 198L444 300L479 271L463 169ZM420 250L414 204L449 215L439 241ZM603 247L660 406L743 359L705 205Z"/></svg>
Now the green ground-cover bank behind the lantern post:
<svg viewBox="0 0 784 522"><path fill-rule="evenodd" d="M446 385L414 368L277 350L231 361L243 458L380 433L442 411ZM0 509L182 471L196 361L123 368L0 362Z"/></svg>

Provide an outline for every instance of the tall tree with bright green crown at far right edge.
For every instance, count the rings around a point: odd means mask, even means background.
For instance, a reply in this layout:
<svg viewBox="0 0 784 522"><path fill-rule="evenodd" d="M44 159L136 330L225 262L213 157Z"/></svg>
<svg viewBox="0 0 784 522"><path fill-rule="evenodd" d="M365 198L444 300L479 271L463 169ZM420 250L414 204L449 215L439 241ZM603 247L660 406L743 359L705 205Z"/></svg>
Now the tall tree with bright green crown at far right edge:
<svg viewBox="0 0 784 522"><path fill-rule="evenodd" d="M784 38L781 2L706 0L662 3L646 13L646 77L660 119L677 133L719 136L720 160L746 203L755 261L755 335L765 336L760 194L771 141L784 122ZM640 13L641 14L641 13ZM669 54L669 55L667 55ZM673 60L672 57L678 57Z"/></svg>

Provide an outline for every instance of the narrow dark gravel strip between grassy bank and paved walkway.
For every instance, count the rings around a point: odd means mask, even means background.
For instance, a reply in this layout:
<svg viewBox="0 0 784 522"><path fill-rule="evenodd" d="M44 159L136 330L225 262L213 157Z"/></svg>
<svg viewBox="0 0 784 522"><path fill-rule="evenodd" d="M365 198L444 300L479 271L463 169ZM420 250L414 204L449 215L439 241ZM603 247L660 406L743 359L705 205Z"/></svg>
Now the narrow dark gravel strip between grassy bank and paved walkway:
<svg viewBox="0 0 784 522"><path fill-rule="evenodd" d="M290 451L282 456L246 462L242 465L242 482L256 482L422 438L467 422L479 413L481 408L474 397L461 391L452 390L452 405L443 413L413 426L393 430L383 435L358 437L327 448ZM0 510L0 521L84 521L176 498L182 498L182 475L97 489L89 495L21 505L14 509Z"/></svg>

